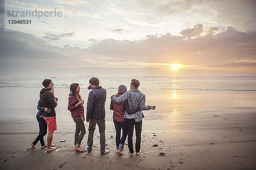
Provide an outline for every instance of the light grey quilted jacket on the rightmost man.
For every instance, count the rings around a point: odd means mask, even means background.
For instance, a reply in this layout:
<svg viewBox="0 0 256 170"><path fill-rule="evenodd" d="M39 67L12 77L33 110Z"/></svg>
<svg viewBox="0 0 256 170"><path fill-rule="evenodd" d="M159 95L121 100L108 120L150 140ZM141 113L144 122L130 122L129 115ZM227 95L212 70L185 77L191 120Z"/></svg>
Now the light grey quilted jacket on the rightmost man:
<svg viewBox="0 0 256 170"><path fill-rule="evenodd" d="M125 111L124 118L126 119L135 118L136 122L141 121L142 118L144 117L142 111L150 109L149 105L145 105L145 100L146 100L145 95L141 93L138 89L131 89L129 91L126 91L124 94L122 94L117 98L115 95L112 95L111 100L113 100L113 102L117 104L127 100L130 109L140 108L140 111L137 111L136 113L132 113L132 114L128 114L127 111Z"/></svg>

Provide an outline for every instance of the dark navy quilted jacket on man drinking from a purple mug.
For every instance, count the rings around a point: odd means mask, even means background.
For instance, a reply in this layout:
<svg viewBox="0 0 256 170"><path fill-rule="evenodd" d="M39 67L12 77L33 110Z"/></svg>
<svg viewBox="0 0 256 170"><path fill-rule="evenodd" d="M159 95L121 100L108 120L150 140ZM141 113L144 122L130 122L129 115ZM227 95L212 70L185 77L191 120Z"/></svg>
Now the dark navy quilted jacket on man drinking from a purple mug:
<svg viewBox="0 0 256 170"><path fill-rule="evenodd" d="M106 90L102 86L96 86L90 91L87 100L86 122L89 122L90 117L93 119L105 118L105 101Z"/></svg>

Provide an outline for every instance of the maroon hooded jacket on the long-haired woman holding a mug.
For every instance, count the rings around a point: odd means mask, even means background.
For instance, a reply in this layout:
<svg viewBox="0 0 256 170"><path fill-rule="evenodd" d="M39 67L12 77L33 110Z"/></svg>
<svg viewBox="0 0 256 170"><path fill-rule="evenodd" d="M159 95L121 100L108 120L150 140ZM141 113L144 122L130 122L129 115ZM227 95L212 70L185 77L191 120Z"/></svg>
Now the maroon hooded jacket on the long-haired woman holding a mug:
<svg viewBox="0 0 256 170"><path fill-rule="evenodd" d="M84 106L83 105L78 105L77 107L75 106L79 100L76 99L75 96L72 94L69 95L70 97L68 98L68 107L67 110L71 112L72 117L79 117L79 116L84 116Z"/></svg>

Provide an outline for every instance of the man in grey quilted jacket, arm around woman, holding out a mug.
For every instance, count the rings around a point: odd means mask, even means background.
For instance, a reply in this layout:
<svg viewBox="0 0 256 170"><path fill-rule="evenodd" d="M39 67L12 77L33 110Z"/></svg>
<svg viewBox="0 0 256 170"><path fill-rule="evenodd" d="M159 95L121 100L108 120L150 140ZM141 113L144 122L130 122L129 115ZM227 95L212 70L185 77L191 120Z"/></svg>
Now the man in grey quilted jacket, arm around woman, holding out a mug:
<svg viewBox="0 0 256 170"><path fill-rule="evenodd" d="M136 155L139 155L140 143L141 143L142 119L144 117L142 111L152 109L152 106L145 105L145 95L138 90L139 85L140 85L139 80L132 79L130 84L131 86L130 91L126 91L124 94L122 94L119 97L116 97L115 95L111 96L111 100L117 104L125 102L125 100L127 100L130 109L140 108L140 111L137 111L136 113L132 113L132 114L128 114L127 111L125 111L125 115L124 115L124 118L126 118L126 123L127 123L128 148L129 148L130 155L133 155L134 153L133 139L132 139L134 125L135 125L135 133L136 133L135 151L136 151Z"/></svg>

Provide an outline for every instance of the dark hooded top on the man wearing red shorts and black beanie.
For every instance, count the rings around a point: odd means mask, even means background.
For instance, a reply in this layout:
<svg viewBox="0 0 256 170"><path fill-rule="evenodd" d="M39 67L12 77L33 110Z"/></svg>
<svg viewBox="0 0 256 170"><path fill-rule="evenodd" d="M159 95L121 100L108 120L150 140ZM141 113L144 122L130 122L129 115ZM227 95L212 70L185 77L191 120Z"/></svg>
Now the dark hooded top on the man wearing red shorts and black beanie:
<svg viewBox="0 0 256 170"><path fill-rule="evenodd" d="M47 111L43 111L44 117L53 117L56 116L55 108L57 106L57 102L54 99L54 95L49 88L42 88L40 91L40 100L41 104L47 109L51 109L51 113L47 113Z"/></svg>

